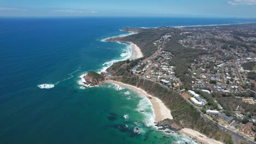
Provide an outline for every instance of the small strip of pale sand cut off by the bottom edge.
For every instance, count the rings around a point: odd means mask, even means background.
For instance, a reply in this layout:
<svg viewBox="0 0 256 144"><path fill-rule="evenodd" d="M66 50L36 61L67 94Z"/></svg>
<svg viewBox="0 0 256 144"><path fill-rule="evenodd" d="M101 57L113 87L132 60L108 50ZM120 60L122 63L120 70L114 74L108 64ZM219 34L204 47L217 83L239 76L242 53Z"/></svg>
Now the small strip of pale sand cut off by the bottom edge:
<svg viewBox="0 0 256 144"><path fill-rule="evenodd" d="M208 144L215 144L215 143L221 144L222 143L220 141L210 139L207 136L205 136L205 135L203 135L203 134L201 134L198 131L195 131L193 129L184 128L184 129L180 130L179 133L188 135L191 138L196 139L198 142L205 143L205 144L207 144L207 143Z"/></svg>

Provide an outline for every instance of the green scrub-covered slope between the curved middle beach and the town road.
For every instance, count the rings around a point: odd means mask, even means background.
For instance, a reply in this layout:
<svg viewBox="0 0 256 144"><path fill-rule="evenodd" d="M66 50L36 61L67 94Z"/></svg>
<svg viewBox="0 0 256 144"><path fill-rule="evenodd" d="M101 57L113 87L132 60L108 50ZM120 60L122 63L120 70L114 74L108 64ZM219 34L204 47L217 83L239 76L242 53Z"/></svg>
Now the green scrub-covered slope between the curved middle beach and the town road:
<svg viewBox="0 0 256 144"><path fill-rule="evenodd" d="M123 63L123 65L121 65L121 63ZM118 66L120 66L119 69ZM123 71L121 69L128 69L129 67L130 65L123 61L113 64L109 70L115 69L117 71ZM127 74L129 75L123 75L118 80L129 85L142 88L147 93L152 94L164 101L165 105L169 107L172 112L173 120L171 120L171 122L181 125L181 127L197 130L200 133L218 141L232 143L232 136L229 133L219 129L217 125L211 122L206 122L200 116L200 113L195 109L195 107L188 104L187 101L185 101L177 92L168 89L159 83L134 76L131 74L129 69L127 71ZM119 74L119 72L112 71L112 75L120 76Z"/></svg>

